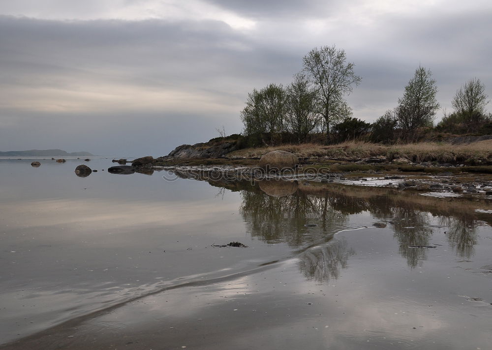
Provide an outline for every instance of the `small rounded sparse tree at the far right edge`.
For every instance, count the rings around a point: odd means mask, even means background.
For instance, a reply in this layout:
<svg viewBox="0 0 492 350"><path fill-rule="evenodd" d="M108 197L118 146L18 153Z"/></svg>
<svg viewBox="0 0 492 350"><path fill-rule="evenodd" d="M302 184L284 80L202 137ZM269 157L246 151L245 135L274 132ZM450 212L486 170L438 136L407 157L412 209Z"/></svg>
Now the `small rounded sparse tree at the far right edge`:
<svg viewBox="0 0 492 350"><path fill-rule="evenodd" d="M490 102L488 97L480 79L470 79L456 91L451 105L463 121L476 124L483 121L486 114L485 106Z"/></svg>

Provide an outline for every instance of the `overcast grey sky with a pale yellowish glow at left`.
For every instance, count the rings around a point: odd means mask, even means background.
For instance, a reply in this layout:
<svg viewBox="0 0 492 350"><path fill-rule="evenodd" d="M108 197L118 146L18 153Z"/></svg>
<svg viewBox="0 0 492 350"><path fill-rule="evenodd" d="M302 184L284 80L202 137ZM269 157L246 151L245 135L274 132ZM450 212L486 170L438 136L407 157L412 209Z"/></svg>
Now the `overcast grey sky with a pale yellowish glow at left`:
<svg viewBox="0 0 492 350"><path fill-rule="evenodd" d="M0 1L0 150L162 156L240 133L247 93L325 45L362 76L354 117L394 108L419 65L449 113L469 79L492 95L491 18L489 0Z"/></svg>

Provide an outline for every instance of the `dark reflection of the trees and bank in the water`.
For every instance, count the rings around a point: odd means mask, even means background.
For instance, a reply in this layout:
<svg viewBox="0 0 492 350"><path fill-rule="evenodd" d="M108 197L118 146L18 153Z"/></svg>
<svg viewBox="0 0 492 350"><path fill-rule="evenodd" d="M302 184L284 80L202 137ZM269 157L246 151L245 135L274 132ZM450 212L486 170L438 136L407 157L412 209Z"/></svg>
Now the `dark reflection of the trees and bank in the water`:
<svg viewBox="0 0 492 350"><path fill-rule="evenodd" d="M360 218L360 214L370 214L380 221L376 227L393 231L398 251L411 268L422 266L428 259L432 247L436 246L431 240L438 229L447 230L448 243L457 256L470 258L477 244L477 226L492 223L490 216L485 217L484 222L475 211L479 207L491 207L490 201L477 204L467 198L438 199L388 188L336 183L265 180L250 183L217 180L216 176L212 180L202 172L178 175L241 191L240 213L252 237L272 244L284 242L300 251L320 244L316 250L306 251L300 265L307 278L317 281L337 278L339 269L347 266L347 259L353 254L347 243L327 242L334 233L349 225L352 218ZM438 225L433 225L436 222ZM366 222L366 225L372 223Z"/></svg>

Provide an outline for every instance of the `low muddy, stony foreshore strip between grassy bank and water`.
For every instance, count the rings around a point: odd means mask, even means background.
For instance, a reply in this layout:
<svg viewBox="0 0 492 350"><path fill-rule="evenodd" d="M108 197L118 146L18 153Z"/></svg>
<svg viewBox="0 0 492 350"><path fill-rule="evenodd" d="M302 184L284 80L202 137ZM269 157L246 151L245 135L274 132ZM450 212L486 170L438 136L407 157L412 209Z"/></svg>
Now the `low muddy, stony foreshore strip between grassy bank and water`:
<svg viewBox="0 0 492 350"><path fill-rule="evenodd" d="M408 164L355 164L304 162L295 172L287 175L268 175L255 172L257 159L190 159L170 160L138 167L140 170L177 171L182 176L197 179L224 179L226 182L241 180L283 179L308 183L339 183L364 187L387 187L399 190L431 191L433 196L453 195L492 199L492 174L481 173L485 167L456 167ZM488 167L487 167L488 168ZM492 167L491 171L492 171ZM488 171L488 169L485 169ZM186 174L187 173L187 174Z"/></svg>

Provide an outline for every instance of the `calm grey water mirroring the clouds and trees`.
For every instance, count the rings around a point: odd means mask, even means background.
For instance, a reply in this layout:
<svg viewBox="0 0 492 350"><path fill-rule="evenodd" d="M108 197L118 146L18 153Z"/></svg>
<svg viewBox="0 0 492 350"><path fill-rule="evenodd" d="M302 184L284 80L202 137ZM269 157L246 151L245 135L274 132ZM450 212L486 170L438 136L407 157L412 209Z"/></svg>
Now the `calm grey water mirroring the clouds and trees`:
<svg viewBox="0 0 492 350"><path fill-rule="evenodd" d="M0 160L5 348L490 349L491 203L66 159Z"/></svg>

